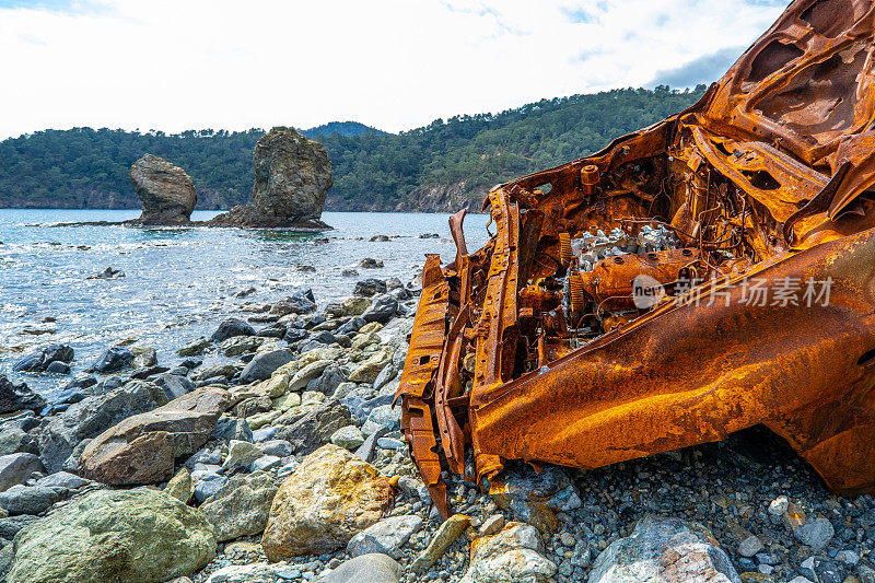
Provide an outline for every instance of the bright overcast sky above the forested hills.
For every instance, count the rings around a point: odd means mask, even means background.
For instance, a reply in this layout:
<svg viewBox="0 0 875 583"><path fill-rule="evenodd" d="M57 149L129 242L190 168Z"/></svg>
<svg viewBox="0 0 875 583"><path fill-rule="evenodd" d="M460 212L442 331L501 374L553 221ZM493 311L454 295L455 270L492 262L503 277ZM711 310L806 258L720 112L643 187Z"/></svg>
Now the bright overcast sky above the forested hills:
<svg viewBox="0 0 875 583"><path fill-rule="evenodd" d="M716 80L786 0L0 0L0 139L77 126L399 131Z"/></svg>

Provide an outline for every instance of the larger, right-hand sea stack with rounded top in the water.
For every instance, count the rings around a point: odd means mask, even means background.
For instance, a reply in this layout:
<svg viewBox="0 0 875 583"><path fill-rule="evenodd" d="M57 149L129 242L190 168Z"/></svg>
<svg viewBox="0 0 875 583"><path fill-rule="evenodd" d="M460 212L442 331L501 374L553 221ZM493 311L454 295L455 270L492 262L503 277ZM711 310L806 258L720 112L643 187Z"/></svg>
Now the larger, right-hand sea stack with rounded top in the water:
<svg viewBox="0 0 875 583"><path fill-rule="evenodd" d="M325 147L294 128L277 127L253 152L253 201L220 214L211 224L228 226L326 229L319 221L334 184Z"/></svg>

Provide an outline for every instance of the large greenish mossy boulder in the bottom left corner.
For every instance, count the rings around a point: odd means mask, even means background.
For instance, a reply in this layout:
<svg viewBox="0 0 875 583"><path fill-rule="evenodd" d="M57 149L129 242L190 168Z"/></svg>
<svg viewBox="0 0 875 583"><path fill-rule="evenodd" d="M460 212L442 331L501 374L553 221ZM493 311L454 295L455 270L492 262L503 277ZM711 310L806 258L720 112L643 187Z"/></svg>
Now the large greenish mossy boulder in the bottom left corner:
<svg viewBox="0 0 875 583"><path fill-rule="evenodd" d="M10 583L162 582L202 569L215 534L200 511L150 488L98 490L15 537Z"/></svg>

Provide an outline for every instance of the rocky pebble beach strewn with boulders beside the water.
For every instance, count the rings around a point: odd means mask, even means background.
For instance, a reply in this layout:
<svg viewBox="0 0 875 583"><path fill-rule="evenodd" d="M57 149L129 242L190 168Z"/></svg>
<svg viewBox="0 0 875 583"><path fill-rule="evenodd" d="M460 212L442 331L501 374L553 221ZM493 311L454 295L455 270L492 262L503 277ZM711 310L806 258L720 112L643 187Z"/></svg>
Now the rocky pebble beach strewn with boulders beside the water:
<svg viewBox="0 0 875 583"><path fill-rule="evenodd" d="M7 581L875 581L875 500L832 497L756 429L448 477L442 521L393 407L418 281L378 271L329 303L250 302L166 359L106 346L48 400L0 378ZM74 358L49 343L15 375Z"/></svg>

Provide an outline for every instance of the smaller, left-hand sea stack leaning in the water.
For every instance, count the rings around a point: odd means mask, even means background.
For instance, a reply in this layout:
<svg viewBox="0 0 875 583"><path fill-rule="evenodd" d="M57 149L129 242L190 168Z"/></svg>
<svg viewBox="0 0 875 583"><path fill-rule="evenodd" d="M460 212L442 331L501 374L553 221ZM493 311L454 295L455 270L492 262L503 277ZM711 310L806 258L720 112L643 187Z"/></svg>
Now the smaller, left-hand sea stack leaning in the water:
<svg viewBox="0 0 875 583"><path fill-rule="evenodd" d="M180 167L145 154L130 167L130 179L143 205L139 224L187 224L198 200L195 184Z"/></svg>

